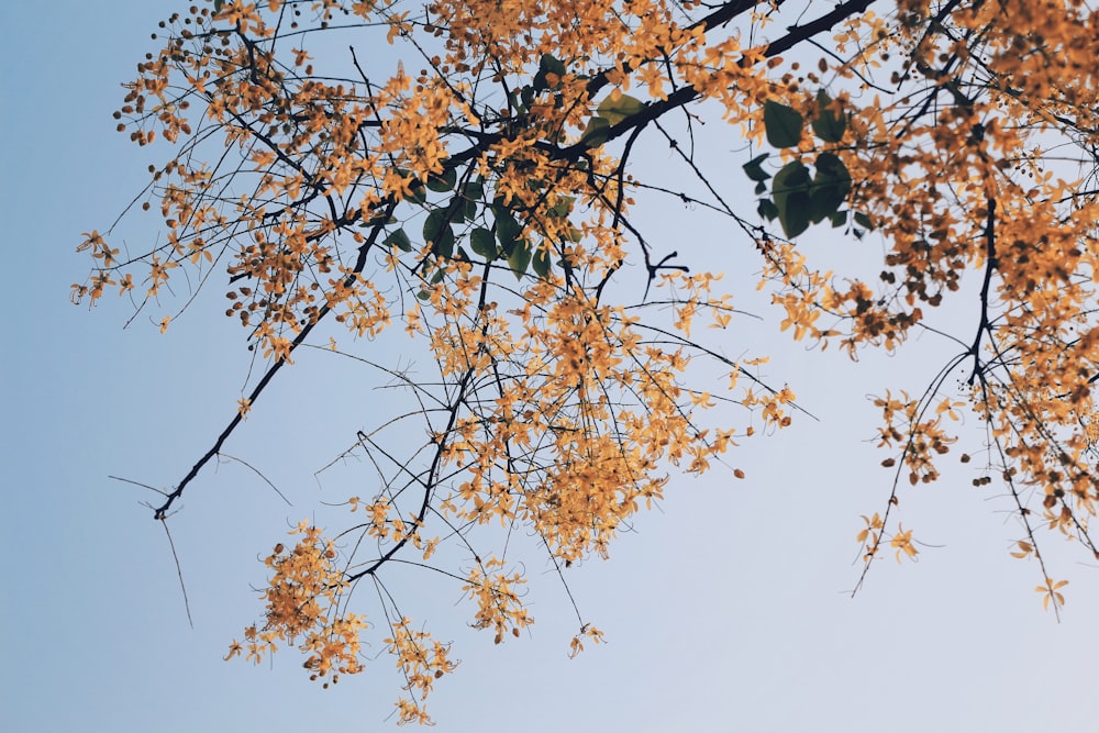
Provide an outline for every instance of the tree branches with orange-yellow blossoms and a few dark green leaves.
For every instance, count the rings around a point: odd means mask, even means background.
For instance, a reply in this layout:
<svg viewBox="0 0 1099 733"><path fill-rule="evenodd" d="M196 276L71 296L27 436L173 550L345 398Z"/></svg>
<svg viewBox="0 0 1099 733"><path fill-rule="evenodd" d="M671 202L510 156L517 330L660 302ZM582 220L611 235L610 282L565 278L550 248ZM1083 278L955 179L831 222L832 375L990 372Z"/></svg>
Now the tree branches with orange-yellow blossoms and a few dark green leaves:
<svg viewBox="0 0 1099 733"><path fill-rule="evenodd" d="M264 620L230 656L296 645L313 678L360 671L351 590L371 581L407 679L400 719L425 722L455 665L384 574L447 574L499 643L532 622L506 557L512 527L564 580L660 499L669 470L701 474L789 424L793 391L761 376L766 357L724 355L733 293L695 271L704 252L646 240L642 200L725 216L795 340L852 358L917 333L956 345L921 395L875 402L892 478L857 537L862 578L882 554L918 553L901 489L935 480L968 411L986 435L974 482L996 475L1012 554L1035 562L1047 606L1064 602L1040 530L1099 557L1099 19L1074 0L787 4L214 1L162 24L115 118L140 145L174 146L136 200L167 234L121 255L89 233L93 269L74 298L118 287L138 311L166 310L184 274L178 314L224 271L226 314L263 369L155 518L311 336L410 404L354 437L347 454L379 485L348 498L345 529L304 521L275 546ZM377 51L382 34L395 51ZM680 142L718 118L743 142L750 203L731 203L710 151ZM634 177L646 145L670 146L689 185ZM823 224L885 253L858 251L872 277L806 246ZM929 322L947 303L968 316L954 332ZM395 322L437 376L371 349ZM719 401L739 406L737 424L709 411ZM386 443L410 421L421 445ZM601 637L577 618L574 653Z"/></svg>

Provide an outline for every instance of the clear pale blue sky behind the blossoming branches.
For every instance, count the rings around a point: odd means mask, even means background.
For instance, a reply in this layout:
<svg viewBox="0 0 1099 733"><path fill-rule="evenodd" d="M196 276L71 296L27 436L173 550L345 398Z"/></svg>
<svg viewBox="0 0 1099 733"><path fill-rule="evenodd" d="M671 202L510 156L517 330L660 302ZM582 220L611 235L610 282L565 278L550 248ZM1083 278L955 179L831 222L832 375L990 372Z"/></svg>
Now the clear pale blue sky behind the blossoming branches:
<svg viewBox="0 0 1099 733"><path fill-rule="evenodd" d="M384 654L329 690L308 681L297 652L258 668L221 657L262 610L249 586L263 584L257 558L281 527L319 501L369 495L355 486L373 478L363 467L320 486L313 471L400 395L357 391L360 373L319 353L284 370L226 449L275 478L293 507L226 464L207 469L170 521L193 630L164 529L141 504L156 497L108 478L177 481L235 410L248 367L217 288L163 336L158 311L123 330L126 301L108 296L89 312L68 300L87 273L74 252L80 233L108 229L164 155L130 144L110 115L120 82L153 49L149 33L177 9L0 3L0 213L15 257L0 296L13 333L0 360L0 729L387 730L400 682ZM714 155L739 175L733 131L710 134L724 136L710 138ZM639 177L670 165L658 141L653 149ZM730 282L753 281L755 263L737 270L748 262L735 256L740 233L662 207L642 214L652 241L726 266ZM137 249L158 234L137 216L118 236ZM814 245L822 254L880 255L879 243L830 236ZM942 318L975 319L964 306ZM1032 590L1037 568L1008 555L1009 501L995 482L969 485L980 459L963 467L952 454L941 481L903 491L906 527L934 547L918 563L885 556L851 598L858 517L882 509L891 477L878 467L887 455L873 447L866 396L921 390L950 347L924 337L853 364L789 343L776 322L734 321L728 352L771 354L767 377L789 382L819 422L797 419L742 447L732 460L745 480L720 467L674 478L609 562L570 576L608 644L567 658L576 619L542 566L526 568L535 625L501 646L465 626L473 611L455 586L391 581L462 660L429 700L436 730L1095 730L1096 565L1044 537L1051 574L1072 581L1057 623Z"/></svg>

